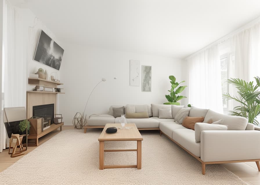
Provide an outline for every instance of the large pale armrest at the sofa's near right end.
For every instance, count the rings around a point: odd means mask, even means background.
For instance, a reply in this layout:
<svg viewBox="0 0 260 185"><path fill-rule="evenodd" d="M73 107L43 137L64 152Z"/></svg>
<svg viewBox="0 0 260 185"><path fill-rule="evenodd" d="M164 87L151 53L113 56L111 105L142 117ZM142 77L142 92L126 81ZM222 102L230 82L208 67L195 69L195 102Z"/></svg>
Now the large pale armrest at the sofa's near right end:
<svg viewBox="0 0 260 185"><path fill-rule="evenodd" d="M260 159L257 130L206 130L201 132L204 162Z"/></svg>

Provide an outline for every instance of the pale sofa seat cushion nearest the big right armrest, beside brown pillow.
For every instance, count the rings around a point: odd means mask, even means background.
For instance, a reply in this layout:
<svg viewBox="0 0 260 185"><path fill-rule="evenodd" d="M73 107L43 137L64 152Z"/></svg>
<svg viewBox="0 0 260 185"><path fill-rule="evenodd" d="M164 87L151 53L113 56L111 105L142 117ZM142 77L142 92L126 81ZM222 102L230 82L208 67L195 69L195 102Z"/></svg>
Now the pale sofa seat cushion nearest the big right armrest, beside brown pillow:
<svg viewBox="0 0 260 185"><path fill-rule="evenodd" d="M201 143L195 142L194 132L195 131L191 129L175 129L172 132L172 138L195 156L200 157Z"/></svg>

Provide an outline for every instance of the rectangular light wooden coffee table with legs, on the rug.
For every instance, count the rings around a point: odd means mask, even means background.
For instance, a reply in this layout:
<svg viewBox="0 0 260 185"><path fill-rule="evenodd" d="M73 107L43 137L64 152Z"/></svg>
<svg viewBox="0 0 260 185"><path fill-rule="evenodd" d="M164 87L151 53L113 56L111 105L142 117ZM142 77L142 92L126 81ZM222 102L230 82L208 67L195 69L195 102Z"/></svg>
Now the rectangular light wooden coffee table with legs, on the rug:
<svg viewBox="0 0 260 185"><path fill-rule="evenodd" d="M118 129L115 134L107 134L106 129L108 127L120 127L121 124L109 123L106 124L102 133L100 134L99 141L99 169L107 168L142 168L142 136L138 131L136 124L128 123L125 127L132 127L131 129ZM137 149L120 149L120 150L104 150L105 141L137 141ZM137 152L137 164L136 165L105 165L104 166L104 152L114 152L114 151L136 151Z"/></svg>

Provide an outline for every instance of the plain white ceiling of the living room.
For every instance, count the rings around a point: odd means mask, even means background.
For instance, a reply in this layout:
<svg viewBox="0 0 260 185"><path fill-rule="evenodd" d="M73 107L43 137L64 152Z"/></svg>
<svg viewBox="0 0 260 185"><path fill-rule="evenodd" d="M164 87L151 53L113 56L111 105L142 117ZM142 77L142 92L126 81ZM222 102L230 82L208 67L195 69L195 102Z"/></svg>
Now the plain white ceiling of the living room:
<svg viewBox="0 0 260 185"><path fill-rule="evenodd" d="M260 16L257 0L20 0L64 42L185 58Z"/></svg>

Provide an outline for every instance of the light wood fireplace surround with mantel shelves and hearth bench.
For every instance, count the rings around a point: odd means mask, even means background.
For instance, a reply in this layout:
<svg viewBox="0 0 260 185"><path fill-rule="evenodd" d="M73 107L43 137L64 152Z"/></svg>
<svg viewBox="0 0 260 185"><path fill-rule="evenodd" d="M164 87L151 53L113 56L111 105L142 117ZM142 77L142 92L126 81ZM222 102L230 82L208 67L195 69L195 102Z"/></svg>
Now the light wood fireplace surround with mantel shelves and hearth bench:
<svg viewBox="0 0 260 185"><path fill-rule="evenodd" d="M62 85L60 82L55 82L51 80L45 80L40 78L28 78L28 84L33 86L43 86L45 88L57 88L58 85ZM57 94L65 94L64 92L50 92L50 91L32 91L28 90L26 92L26 114L27 119L32 117L32 107L45 105L45 104L52 104L54 103L54 114L56 114L56 102L57 102ZM44 132L38 135L29 135L28 139L35 139L34 144L29 144L28 146L37 146L38 145L38 138L48 134L49 132L57 129L60 127L62 129L62 125L64 123L60 123L58 125L52 124L49 129L46 129Z"/></svg>

